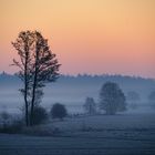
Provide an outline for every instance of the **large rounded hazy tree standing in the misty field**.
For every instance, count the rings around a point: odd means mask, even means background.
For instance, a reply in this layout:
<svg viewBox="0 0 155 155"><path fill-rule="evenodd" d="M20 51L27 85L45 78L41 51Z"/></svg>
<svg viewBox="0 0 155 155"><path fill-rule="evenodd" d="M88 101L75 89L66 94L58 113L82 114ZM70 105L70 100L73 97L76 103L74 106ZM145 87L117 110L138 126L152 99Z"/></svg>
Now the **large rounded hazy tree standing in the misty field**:
<svg viewBox="0 0 155 155"><path fill-rule="evenodd" d="M100 91L100 107L106 114L115 114L126 110L126 99L116 83L106 82Z"/></svg>

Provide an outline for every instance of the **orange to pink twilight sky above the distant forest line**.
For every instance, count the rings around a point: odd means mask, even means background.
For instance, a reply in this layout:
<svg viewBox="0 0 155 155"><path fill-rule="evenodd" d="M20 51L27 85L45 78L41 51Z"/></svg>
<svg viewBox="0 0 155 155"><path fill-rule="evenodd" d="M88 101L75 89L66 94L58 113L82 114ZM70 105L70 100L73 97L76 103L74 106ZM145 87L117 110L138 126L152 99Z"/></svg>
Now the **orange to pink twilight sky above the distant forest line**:
<svg viewBox="0 0 155 155"><path fill-rule="evenodd" d="M24 30L49 40L61 73L155 78L155 0L0 0L0 72L18 71Z"/></svg>

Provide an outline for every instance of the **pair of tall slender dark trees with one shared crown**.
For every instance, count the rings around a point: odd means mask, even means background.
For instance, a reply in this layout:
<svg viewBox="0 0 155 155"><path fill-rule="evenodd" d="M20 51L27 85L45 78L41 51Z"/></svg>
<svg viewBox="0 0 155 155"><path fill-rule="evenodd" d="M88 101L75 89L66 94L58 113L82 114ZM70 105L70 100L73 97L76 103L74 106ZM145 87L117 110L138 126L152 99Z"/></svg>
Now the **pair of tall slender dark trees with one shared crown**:
<svg viewBox="0 0 155 155"><path fill-rule="evenodd" d="M12 44L20 55L20 62L13 60L13 64L20 69L17 74L24 83L20 91L24 96L25 123L33 125L33 111L43 96L42 87L46 82L54 82L59 78L60 64L51 52L48 40L38 31L20 32Z"/></svg>

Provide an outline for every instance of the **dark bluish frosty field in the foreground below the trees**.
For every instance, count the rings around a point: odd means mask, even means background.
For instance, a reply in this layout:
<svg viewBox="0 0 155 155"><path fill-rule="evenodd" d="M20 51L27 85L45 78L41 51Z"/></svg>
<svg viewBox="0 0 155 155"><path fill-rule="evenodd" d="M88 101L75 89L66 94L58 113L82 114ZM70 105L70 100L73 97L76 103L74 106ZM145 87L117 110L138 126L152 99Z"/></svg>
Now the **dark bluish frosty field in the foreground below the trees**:
<svg viewBox="0 0 155 155"><path fill-rule="evenodd" d="M0 134L0 155L154 155L155 113L66 118L38 126L55 136Z"/></svg>

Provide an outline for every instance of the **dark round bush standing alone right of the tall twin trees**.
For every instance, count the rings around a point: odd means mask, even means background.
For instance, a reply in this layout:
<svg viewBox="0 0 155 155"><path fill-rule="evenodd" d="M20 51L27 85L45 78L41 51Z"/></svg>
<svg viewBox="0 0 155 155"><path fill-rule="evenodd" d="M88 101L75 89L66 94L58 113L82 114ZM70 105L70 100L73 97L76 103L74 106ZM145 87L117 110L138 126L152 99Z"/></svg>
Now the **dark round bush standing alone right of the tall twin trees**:
<svg viewBox="0 0 155 155"><path fill-rule="evenodd" d="M51 108L51 116L53 118L63 118L68 115L66 108L63 104L55 103Z"/></svg>

